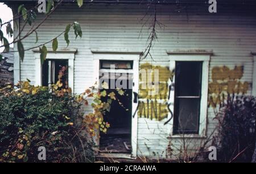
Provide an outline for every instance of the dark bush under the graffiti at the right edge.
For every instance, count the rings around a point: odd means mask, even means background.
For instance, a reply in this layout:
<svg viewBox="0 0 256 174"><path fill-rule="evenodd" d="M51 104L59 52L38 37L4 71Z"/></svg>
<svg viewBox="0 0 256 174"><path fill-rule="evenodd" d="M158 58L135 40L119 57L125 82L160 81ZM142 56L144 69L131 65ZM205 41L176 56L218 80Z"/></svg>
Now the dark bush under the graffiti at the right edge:
<svg viewBox="0 0 256 174"><path fill-rule="evenodd" d="M229 96L224 110L216 117L220 122L218 160L250 162L255 145L256 99L250 96ZM216 137L215 137L216 138Z"/></svg>

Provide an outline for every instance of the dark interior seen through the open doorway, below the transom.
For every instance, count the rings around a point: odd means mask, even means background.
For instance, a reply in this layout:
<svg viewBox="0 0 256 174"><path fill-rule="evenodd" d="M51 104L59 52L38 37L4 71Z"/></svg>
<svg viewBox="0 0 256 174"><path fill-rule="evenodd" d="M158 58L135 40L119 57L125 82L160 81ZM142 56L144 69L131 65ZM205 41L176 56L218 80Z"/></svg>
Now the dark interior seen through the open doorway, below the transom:
<svg viewBox="0 0 256 174"><path fill-rule="evenodd" d="M114 82L116 79L112 79ZM110 80L109 80L110 81ZM129 81L126 81L127 84ZM110 123L107 133L100 133L100 150L105 152L131 152L131 100L132 90L122 89L125 94L119 95L116 90L108 89L114 92L118 100L113 100L110 112L106 112L104 120ZM107 100L104 97L102 100ZM119 104L121 102L122 104Z"/></svg>

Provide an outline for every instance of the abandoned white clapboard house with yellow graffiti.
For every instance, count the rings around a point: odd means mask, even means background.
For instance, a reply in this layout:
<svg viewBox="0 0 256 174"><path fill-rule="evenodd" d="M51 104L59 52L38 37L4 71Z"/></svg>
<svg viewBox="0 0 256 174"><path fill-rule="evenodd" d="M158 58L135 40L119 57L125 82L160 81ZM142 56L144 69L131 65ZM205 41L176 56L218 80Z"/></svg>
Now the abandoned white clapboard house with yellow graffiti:
<svg viewBox="0 0 256 174"><path fill-rule="evenodd" d="M37 4L4 2L14 14L20 4ZM126 80L133 83L126 90L129 97L122 99L130 109L112 107L113 126L100 146L127 156L170 158L184 138L191 141L188 149L195 150L209 137L216 128L213 108L223 94L256 95L256 2L217 1L216 13L208 11L208 1L160 0L149 11L147 3L94 0L79 8L76 2L64 1L37 29L38 43L33 33L23 40L24 48L46 43L74 21L81 25L81 39L70 32L69 46L63 37L56 52L47 44L43 66L39 49L26 51L23 62L15 52L14 82L30 79L32 84L47 85L55 82L57 67L67 65L68 86L80 94L99 79L100 70L111 73L110 64L115 64L116 72L129 73ZM155 28L158 38L151 56L143 59L154 14L160 23ZM44 16L39 13L36 23ZM14 37L24 22L16 23ZM24 27L23 33L29 29ZM159 70L158 95L141 88L142 69Z"/></svg>

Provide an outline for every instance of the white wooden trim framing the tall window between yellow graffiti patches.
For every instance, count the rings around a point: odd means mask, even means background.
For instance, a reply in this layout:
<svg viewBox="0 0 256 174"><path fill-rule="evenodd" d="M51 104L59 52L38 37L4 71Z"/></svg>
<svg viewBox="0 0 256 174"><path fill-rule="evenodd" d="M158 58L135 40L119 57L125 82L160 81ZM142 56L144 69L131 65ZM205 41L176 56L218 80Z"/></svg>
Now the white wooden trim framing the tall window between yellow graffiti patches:
<svg viewBox="0 0 256 174"><path fill-rule="evenodd" d="M171 134L169 138L205 138L207 137L207 100L208 100L208 80L209 80L209 61L212 52L167 52L170 57L170 70L175 69L176 61L203 61L202 86L200 101L200 122L199 134L173 134L174 118L171 120ZM175 78L174 78L175 80ZM175 84L175 82L173 82ZM174 113L175 91L170 94L170 109Z"/></svg>

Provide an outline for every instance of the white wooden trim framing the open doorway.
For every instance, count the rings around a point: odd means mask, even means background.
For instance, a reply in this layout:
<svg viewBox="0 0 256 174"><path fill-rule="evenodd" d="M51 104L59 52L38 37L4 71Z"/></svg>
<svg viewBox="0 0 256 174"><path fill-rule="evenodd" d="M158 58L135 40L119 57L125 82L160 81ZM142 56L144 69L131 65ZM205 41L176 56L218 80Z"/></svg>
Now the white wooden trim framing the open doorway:
<svg viewBox="0 0 256 174"><path fill-rule="evenodd" d="M100 60L123 60L123 61L133 61L133 69L129 72L133 73L133 92L139 92L139 58L142 52L114 52L105 50L91 50L94 56L94 80L99 81L99 70L100 70ZM132 97L132 102L134 101L134 95ZM136 112L137 103L132 104L132 114ZM137 134L138 134L138 114L135 113L134 118L131 118L131 157L137 156Z"/></svg>

